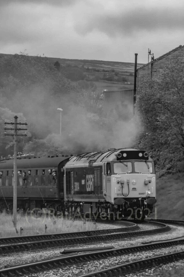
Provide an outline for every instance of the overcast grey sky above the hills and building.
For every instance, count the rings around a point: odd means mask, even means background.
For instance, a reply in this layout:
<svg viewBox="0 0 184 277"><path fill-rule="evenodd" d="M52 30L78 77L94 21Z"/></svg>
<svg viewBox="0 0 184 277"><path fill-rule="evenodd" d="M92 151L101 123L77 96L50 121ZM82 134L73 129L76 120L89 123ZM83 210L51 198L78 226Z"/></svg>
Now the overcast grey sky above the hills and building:
<svg viewBox="0 0 184 277"><path fill-rule="evenodd" d="M0 53L148 62L184 45L183 0L0 0Z"/></svg>

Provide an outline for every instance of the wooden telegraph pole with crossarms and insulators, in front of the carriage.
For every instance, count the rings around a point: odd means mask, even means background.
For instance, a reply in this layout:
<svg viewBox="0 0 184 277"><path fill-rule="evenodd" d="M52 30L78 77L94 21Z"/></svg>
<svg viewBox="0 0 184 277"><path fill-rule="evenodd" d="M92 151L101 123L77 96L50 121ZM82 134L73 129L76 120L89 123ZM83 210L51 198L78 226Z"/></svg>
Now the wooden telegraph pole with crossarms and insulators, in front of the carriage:
<svg viewBox="0 0 184 277"><path fill-rule="evenodd" d="M21 120L19 123L17 123L17 115L14 116L14 122L6 122L5 120L5 135L6 136L13 136L14 140L14 160L13 160L13 224L17 225L17 136L27 136L26 132L25 134L17 134L17 131L21 130L27 130L25 128L21 128L21 125L27 125L27 122L25 120L25 123L21 123ZM10 128L6 128L6 124L10 124ZM17 125L20 125L17 127ZM14 133L6 134L6 130L13 130L12 126L14 125Z"/></svg>

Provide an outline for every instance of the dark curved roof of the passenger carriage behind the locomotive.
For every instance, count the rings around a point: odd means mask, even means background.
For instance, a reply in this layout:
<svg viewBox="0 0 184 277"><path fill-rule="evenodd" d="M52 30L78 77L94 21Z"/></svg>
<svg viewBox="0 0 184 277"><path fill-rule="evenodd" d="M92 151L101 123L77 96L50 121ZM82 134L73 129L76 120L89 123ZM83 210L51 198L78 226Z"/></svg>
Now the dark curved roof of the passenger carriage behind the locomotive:
<svg viewBox="0 0 184 277"><path fill-rule="evenodd" d="M53 157L53 158L31 158L31 159L17 159L17 168L39 168L39 167L58 167L59 163L70 157ZM13 159L0 161L0 170L13 169Z"/></svg>

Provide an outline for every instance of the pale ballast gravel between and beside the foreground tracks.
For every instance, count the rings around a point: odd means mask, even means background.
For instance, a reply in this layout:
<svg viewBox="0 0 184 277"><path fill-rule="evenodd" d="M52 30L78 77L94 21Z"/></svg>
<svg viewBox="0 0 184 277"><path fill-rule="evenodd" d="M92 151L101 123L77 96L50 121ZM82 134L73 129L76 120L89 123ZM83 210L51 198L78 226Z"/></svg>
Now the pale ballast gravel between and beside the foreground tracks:
<svg viewBox="0 0 184 277"><path fill-rule="evenodd" d="M103 224L102 224L103 225ZM105 226L103 226L102 229L107 229L109 228L109 226L107 226L107 224L104 224ZM113 225L115 226L115 225ZM151 229L155 229L155 225L153 224L139 224L140 226L140 230L151 230ZM116 226L116 228L120 227L119 225ZM140 237L138 236L137 238L128 238L128 239L122 239L122 240L116 240L116 241L111 241L111 242L107 242L107 243L99 243L98 242L98 246L109 246L109 245L113 245L115 248L120 248L120 247L129 247L129 246L135 246L135 245L140 245L142 242L146 242L149 243L150 241L155 241L155 240L164 240L164 239L172 239L175 237L181 237L182 235L184 236L184 227L176 227L174 225L170 225L171 227L171 231L168 232L164 232L164 233L160 233L160 234L156 234L156 235L146 235L144 237ZM97 247L96 244L87 244L87 245L76 245L76 248L80 248L80 247ZM66 248L74 248L74 246L72 247L65 247ZM31 277L76 277L76 276L80 276L89 272L93 272L93 271L98 271L98 270L103 270L105 268L108 267L113 267L113 266L117 266L120 265L122 263L128 263L128 262L132 262L138 259L146 259L149 258L151 256L156 256L156 255L164 255L166 253L171 253L173 251L177 252L177 251L182 251L184 249L183 245L177 245L177 246L172 246L172 247L166 247L166 248L161 248L161 249L155 249L155 250L150 250L150 251L141 251L139 253L131 253L128 255L120 255L117 257L109 257L108 259L100 259L100 260L92 260L89 262L84 262L84 263L80 263L77 265L73 265L73 266L66 266L60 269L55 269L55 270L50 270L50 271L42 271L40 273L36 273L36 274L30 274L30 275L25 275L25 276L31 276ZM57 256L60 255L60 251L62 251L63 248L62 247L52 247L49 250L48 249L42 249L41 252L40 250L32 250L28 252L20 252L20 253L16 253L15 254L8 254L8 255L4 255L1 257L1 261L0 261L0 268L3 268L5 266L13 266L15 264L19 264L22 263L22 261L24 262L33 262L35 260L39 260L39 259L46 259L46 258L51 258L53 256ZM178 263L178 262L177 262ZM173 263L177 265L177 263ZM172 263L169 264L169 267L171 266ZM181 264L183 264L183 261L181 262ZM164 266L163 266L164 267ZM156 269L155 269L156 270ZM137 272L136 275L135 274L131 274L128 276L148 276L148 275L153 275L153 276L157 276L155 275L155 273L153 273L153 269L152 270L148 270L145 272ZM23 276L23 275L22 275Z"/></svg>

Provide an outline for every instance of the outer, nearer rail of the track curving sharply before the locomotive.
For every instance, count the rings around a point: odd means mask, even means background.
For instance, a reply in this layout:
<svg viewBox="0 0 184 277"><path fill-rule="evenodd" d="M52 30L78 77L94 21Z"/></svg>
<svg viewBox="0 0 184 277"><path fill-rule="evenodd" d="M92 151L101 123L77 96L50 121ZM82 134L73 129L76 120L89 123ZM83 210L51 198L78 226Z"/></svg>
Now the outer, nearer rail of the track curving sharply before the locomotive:
<svg viewBox="0 0 184 277"><path fill-rule="evenodd" d="M154 222L154 224L156 226L159 226L159 228L152 229L152 230L144 230L144 231L127 231L126 228L117 228L117 229L87 231L87 232L77 232L77 233L67 233L67 234L65 233L64 235L59 234L61 235L59 239L56 239L55 236L53 236L52 239L48 239L48 237L46 236L45 238L47 239L44 239L44 240L1 245L0 254L6 254L10 252L17 252L17 251L29 251L31 249L46 248L46 247L56 247L56 246L66 247L66 246L75 245L79 243L80 244L95 243L95 242L102 242L102 241L111 241L116 239L125 239L125 238L127 239L134 236L157 234L157 233L166 232L170 230L170 227L165 223ZM134 226L136 227L136 225ZM79 233L80 233L80 236L79 236ZM71 234L73 234L73 236ZM58 235L58 234L55 234L55 235ZM62 237L62 235L64 236L64 238Z"/></svg>

